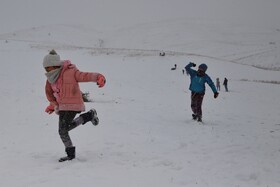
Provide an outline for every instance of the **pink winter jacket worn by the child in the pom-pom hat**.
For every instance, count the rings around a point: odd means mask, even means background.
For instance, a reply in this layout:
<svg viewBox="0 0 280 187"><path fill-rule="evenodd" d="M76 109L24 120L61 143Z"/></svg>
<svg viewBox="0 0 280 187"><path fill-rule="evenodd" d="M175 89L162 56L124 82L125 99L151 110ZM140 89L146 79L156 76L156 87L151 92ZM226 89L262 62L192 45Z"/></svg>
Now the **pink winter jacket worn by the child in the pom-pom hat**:
<svg viewBox="0 0 280 187"><path fill-rule="evenodd" d="M58 111L85 111L79 82L96 82L99 73L81 72L69 60L64 61L58 80L46 81L45 91L50 105Z"/></svg>

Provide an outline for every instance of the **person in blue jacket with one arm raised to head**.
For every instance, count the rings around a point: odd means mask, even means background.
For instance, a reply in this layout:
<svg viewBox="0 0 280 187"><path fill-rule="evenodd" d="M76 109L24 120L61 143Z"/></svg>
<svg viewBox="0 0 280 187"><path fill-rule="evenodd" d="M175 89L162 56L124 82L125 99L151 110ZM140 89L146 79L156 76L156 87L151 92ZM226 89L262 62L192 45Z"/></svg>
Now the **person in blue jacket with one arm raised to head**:
<svg viewBox="0 0 280 187"><path fill-rule="evenodd" d="M211 78L205 73L207 70L206 64L200 64L198 70L193 70L196 64L190 62L186 67L186 72L190 75L191 83L189 90L191 91L191 108L193 111L192 117L199 122L202 121L202 101L205 95L205 83L207 83L214 93L214 98L217 98L219 93Z"/></svg>

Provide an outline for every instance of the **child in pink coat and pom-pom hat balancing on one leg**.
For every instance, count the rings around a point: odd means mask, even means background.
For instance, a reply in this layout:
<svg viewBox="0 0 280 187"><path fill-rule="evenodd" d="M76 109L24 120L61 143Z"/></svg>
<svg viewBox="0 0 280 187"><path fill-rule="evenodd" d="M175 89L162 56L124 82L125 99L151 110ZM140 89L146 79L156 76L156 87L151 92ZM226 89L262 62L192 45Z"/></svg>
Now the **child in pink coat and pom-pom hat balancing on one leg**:
<svg viewBox="0 0 280 187"><path fill-rule="evenodd" d="M60 56L50 51L44 57L43 66L46 70L46 96L50 105L46 112L59 115L59 135L65 146L67 156L59 159L60 162L72 160L76 157L75 147L69 136L69 131L89 121L98 125L99 119L95 109L79 115L85 111L79 82L96 82L101 88L105 85L106 79L100 73L81 72L69 60L60 60Z"/></svg>

